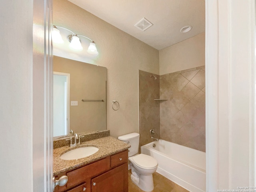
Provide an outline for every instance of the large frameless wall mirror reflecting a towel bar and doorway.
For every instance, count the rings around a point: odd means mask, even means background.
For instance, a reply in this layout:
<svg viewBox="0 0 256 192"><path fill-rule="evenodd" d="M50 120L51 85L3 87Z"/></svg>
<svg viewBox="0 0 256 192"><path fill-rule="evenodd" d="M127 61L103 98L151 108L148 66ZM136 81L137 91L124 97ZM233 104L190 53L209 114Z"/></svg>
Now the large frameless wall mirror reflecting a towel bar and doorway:
<svg viewBox="0 0 256 192"><path fill-rule="evenodd" d="M106 130L107 69L54 56L54 139Z"/></svg>

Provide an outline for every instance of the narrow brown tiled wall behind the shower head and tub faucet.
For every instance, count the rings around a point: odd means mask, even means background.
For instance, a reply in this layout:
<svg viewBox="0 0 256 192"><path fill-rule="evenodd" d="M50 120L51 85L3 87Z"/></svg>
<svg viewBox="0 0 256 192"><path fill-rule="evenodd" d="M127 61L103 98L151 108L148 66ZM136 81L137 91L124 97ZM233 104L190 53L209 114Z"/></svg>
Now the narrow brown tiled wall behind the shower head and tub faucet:
<svg viewBox="0 0 256 192"><path fill-rule="evenodd" d="M140 146L151 142L151 129L160 132L160 105L154 100L159 98L159 85L159 75L139 70Z"/></svg>

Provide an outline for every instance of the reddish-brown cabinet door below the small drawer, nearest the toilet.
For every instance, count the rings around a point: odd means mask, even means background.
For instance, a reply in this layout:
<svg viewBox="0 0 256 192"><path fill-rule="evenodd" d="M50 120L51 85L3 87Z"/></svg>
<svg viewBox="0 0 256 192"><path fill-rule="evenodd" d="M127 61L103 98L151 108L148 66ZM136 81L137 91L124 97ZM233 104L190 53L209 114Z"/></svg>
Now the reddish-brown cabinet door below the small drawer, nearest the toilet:
<svg viewBox="0 0 256 192"><path fill-rule="evenodd" d="M92 179L92 192L128 192L128 163Z"/></svg>

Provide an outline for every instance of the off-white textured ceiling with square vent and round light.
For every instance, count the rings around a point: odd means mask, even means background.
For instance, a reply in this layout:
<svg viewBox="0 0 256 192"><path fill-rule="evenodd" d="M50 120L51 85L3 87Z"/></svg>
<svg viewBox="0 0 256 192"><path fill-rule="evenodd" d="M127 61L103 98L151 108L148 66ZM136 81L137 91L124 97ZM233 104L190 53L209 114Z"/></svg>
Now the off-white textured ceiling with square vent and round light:
<svg viewBox="0 0 256 192"><path fill-rule="evenodd" d="M69 1L158 50L205 31L204 0ZM153 26L145 31L136 28L142 18ZM187 25L192 30L181 33Z"/></svg>

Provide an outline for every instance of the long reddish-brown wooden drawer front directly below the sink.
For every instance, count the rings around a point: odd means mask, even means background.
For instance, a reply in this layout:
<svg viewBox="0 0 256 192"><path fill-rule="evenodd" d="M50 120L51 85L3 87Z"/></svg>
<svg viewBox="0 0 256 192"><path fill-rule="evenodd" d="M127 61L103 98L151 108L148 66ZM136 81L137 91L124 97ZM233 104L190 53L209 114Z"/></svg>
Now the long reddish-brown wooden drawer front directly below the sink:
<svg viewBox="0 0 256 192"><path fill-rule="evenodd" d="M76 186L82 182L85 182L87 178L96 176L106 170L108 170L108 161L105 158L84 167L78 168L74 171L68 172L66 174L68 176L66 187L70 188Z"/></svg>

